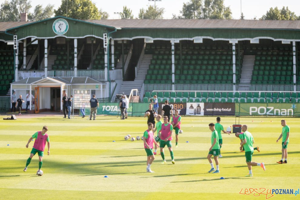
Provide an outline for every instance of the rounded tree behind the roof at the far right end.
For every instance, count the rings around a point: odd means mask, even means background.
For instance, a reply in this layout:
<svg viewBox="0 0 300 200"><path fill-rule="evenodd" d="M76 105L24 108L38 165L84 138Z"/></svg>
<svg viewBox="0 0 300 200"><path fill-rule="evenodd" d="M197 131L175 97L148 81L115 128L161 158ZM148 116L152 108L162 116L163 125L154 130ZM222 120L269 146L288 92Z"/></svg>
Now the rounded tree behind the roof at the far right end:
<svg viewBox="0 0 300 200"><path fill-rule="evenodd" d="M271 7L265 15L262 15L262 20L299 20L300 16L297 16L295 12L292 12L288 9L288 7L282 7L282 9L278 9L275 7L274 9Z"/></svg>

